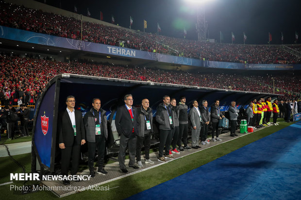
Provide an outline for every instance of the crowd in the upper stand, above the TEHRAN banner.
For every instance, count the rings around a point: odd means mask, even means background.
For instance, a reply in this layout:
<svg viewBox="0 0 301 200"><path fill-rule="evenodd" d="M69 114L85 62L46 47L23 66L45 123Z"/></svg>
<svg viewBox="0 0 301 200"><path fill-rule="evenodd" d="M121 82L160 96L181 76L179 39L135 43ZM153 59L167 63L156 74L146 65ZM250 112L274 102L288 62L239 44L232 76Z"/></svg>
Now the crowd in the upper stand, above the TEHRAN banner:
<svg viewBox="0 0 301 200"><path fill-rule="evenodd" d="M3 1L0 1L0 10L1 26L81 39L81 21L73 17L46 13ZM204 58L209 61L301 63L298 57L285 52L280 46L207 43L163 35L157 36L85 21L83 22L82 39L112 46L120 46L120 41L125 41L121 46L190 58ZM301 48L300 45L293 47L294 49Z"/></svg>

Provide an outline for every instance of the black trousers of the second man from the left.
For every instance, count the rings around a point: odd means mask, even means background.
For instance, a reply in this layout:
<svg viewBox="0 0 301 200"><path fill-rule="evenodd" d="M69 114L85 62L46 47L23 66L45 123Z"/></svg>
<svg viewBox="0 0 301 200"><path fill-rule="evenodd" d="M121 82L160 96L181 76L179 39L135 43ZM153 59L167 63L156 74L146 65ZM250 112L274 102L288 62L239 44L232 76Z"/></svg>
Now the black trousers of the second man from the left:
<svg viewBox="0 0 301 200"><path fill-rule="evenodd" d="M105 152L105 137L103 134L95 136L95 142L88 142L88 166L90 171L94 171L94 158L97 148L99 169L103 168L104 152Z"/></svg>

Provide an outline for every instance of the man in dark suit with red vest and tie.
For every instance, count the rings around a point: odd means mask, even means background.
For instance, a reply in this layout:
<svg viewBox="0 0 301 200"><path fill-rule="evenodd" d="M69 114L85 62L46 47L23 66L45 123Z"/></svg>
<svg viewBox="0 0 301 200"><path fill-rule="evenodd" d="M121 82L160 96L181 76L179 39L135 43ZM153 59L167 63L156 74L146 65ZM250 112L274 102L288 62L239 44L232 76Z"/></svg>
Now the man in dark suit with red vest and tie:
<svg viewBox="0 0 301 200"><path fill-rule="evenodd" d="M117 108L115 125L118 134L120 134L120 147L118 154L119 168L123 173L127 173L128 170L125 167L125 151L127 145L129 146L129 168L139 169L135 165L136 156L136 142L138 136L138 123L137 123L137 110L133 107L133 96L127 94L124 96L124 106Z"/></svg>

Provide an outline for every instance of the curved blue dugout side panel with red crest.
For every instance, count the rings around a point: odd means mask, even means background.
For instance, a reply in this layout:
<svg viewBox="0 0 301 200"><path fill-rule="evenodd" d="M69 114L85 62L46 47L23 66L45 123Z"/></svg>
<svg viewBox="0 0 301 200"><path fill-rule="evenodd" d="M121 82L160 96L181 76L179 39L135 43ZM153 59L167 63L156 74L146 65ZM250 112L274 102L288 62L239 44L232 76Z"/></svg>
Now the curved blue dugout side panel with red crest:
<svg viewBox="0 0 301 200"><path fill-rule="evenodd" d="M46 91L37 113L34 144L42 164L50 168L55 83Z"/></svg>

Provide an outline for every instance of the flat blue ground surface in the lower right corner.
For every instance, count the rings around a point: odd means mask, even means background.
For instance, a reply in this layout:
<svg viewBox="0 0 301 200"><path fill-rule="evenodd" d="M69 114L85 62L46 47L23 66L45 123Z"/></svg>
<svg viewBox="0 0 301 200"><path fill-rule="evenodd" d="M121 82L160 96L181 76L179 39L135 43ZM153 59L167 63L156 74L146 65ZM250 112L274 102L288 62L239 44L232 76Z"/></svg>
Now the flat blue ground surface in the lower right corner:
<svg viewBox="0 0 301 200"><path fill-rule="evenodd" d="M301 200L301 123L128 199Z"/></svg>

